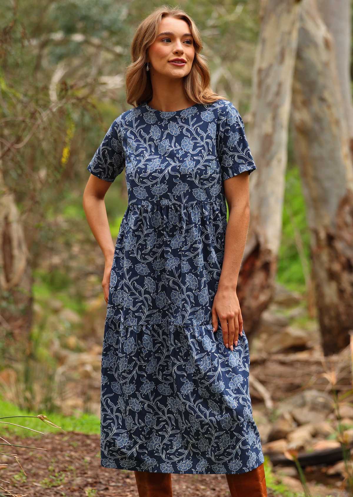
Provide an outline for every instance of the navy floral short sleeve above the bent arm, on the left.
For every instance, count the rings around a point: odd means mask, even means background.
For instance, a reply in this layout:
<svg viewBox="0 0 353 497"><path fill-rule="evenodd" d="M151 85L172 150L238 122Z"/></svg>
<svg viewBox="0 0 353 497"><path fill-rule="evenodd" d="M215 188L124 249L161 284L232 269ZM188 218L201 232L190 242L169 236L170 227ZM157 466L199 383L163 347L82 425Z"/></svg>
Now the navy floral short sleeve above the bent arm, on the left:
<svg viewBox="0 0 353 497"><path fill-rule="evenodd" d="M113 182L125 166L120 118L113 121L101 145L96 150L87 169L105 181Z"/></svg>

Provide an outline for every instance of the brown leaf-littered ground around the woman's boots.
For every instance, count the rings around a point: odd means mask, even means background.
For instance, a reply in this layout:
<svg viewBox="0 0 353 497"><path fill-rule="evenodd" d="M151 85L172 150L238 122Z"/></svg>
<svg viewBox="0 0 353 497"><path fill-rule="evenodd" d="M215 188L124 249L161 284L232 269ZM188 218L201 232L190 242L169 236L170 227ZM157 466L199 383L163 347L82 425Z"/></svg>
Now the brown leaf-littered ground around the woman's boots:
<svg viewBox="0 0 353 497"><path fill-rule="evenodd" d="M11 443L47 451L15 447L26 477L14 460L0 479L11 482L16 496L26 497L136 497L133 471L103 468L100 437L76 432L48 433L41 438L19 438ZM0 465L1 468L1 465ZM230 496L225 475L172 475L173 497ZM274 494L268 490L268 497Z"/></svg>

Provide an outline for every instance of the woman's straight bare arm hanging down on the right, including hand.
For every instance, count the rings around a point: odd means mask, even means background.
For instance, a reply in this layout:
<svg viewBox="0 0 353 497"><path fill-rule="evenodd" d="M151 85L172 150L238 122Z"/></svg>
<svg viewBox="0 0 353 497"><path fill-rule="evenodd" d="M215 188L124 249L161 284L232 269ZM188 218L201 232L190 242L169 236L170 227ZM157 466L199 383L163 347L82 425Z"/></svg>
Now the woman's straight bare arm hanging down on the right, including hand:
<svg viewBox="0 0 353 497"><path fill-rule="evenodd" d="M212 325L213 331L217 331L220 320L223 341L233 350L243 329L236 285L250 218L248 171L226 179L224 189L229 218L221 276L212 306Z"/></svg>

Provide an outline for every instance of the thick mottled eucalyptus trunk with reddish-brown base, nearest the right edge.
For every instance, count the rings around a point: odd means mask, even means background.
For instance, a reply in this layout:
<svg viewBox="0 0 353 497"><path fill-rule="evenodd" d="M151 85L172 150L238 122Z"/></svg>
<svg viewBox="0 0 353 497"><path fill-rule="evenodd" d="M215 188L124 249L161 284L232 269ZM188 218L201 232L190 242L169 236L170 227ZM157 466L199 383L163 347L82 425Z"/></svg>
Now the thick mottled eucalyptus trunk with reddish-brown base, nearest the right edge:
<svg viewBox="0 0 353 497"><path fill-rule="evenodd" d="M331 41L316 0L304 0L292 118L325 355L348 345L353 329L353 168Z"/></svg>

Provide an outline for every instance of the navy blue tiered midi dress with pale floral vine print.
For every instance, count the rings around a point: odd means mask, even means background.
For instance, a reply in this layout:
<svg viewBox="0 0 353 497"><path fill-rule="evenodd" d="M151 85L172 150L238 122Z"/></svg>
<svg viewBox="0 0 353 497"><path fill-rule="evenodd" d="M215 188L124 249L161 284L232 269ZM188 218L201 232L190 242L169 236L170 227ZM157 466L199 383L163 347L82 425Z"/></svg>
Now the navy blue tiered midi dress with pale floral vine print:
<svg viewBox="0 0 353 497"><path fill-rule="evenodd" d="M235 474L263 462L243 331L231 351L211 309L227 227L223 182L256 169L225 99L120 114L87 169L128 205L110 278L102 353L101 465Z"/></svg>

